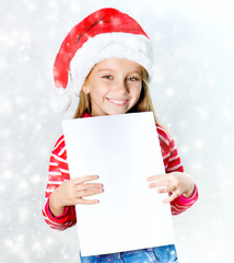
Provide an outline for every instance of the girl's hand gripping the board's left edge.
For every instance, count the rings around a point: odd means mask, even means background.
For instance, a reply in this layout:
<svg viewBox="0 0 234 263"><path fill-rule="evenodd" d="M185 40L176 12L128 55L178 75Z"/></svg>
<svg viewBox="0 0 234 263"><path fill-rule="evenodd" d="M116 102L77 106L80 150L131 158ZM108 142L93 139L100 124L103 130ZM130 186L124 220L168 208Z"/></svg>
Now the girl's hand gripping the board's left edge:
<svg viewBox="0 0 234 263"><path fill-rule="evenodd" d="M59 185L49 197L49 208L52 215L62 215L66 206L97 204L98 199L83 199L83 197L103 193L103 184L87 183L97 179L97 175L80 176Z"/></svg>

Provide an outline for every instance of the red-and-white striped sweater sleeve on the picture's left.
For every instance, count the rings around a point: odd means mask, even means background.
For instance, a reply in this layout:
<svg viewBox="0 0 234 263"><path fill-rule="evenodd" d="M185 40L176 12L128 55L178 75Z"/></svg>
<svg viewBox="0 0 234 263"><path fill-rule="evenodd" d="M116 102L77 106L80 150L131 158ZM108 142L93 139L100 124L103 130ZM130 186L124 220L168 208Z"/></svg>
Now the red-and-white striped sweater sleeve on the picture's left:
<svg viewBox="0 0 234 263"><path fill-rule="evenodd" d="M75 207L68 206L61 216L55 217L49 209L49 196L60 184L70 180L65 138L61 136L51 151L49 160L48 182L46 187L46 199L43 206L43 216L49 227L65 230L77 222Z"/></svg>

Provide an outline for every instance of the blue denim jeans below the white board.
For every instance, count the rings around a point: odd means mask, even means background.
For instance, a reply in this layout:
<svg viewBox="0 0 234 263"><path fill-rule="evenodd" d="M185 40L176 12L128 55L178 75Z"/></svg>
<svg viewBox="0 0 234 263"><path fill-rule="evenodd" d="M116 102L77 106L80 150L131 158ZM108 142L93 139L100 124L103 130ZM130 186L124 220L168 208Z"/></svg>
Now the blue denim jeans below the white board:
<svg viewBox="0 0 234 263"><path fill-rule="evenodd" d="M174 244L121 253L81 256L81 263L173 263L177 261Z"/></svg>

